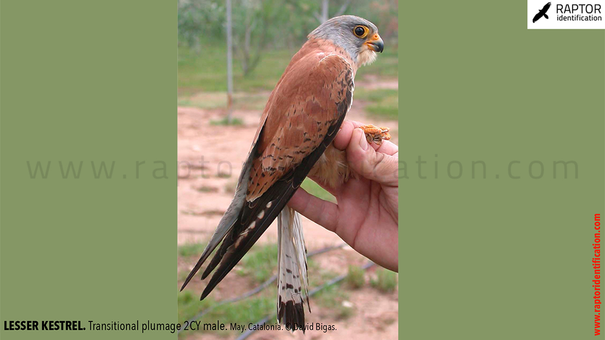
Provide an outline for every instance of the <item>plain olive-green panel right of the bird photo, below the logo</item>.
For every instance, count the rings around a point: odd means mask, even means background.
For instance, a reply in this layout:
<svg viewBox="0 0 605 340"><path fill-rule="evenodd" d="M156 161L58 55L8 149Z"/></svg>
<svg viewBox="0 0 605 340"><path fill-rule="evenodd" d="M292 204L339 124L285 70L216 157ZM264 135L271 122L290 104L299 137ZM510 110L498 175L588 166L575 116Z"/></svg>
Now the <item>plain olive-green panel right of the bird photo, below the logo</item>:
<svg viewBox="0 0 605 340"><path fill-rule="evenodd" d="M400 336L594 338L603 30L527 30L525 1L403 2L399 18Z"/></svg>

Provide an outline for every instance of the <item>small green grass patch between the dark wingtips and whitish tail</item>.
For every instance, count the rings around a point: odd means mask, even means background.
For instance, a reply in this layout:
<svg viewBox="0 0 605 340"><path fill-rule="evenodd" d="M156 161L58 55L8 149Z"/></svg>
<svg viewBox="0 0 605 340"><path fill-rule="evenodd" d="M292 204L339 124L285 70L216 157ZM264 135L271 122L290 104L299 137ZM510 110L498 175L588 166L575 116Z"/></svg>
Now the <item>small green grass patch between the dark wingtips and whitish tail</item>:
<svg viewBox="0 0 605 340"><path fill-rule="evenodd" d="M250 275L256 283L263 283L277 270L277 243L252 247L240 263L238 274Z"/></svg>

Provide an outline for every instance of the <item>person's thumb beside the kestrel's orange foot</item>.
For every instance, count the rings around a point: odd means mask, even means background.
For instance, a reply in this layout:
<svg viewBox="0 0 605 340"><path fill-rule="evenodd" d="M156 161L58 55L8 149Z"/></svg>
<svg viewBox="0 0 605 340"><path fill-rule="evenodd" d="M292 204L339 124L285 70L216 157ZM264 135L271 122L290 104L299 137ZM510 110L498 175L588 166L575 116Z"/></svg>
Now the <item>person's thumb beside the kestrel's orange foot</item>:
<svg viewBox="0 0 605 340"><path fill-rule="evenodd" d="M362 129L353 130L347 146L347 162L356 173L371 181L397 187L397 160L397 153L390 156L370 147Z"/></svg>

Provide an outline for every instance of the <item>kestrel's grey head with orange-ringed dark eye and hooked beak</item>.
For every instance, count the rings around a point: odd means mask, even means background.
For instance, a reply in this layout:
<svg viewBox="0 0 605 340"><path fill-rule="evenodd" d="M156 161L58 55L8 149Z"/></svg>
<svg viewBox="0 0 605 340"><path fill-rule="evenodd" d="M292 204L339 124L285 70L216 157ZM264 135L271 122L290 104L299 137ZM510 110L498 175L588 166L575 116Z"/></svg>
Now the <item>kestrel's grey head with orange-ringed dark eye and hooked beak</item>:
<svg viewBox="0 0 605 340"><path fill-rule="evenodd" d="M309 33L309 38L332 40L350 54L358 65L371 63L376 52L382 52L384 43L376 25L353 15L336 16Z"/></svg>

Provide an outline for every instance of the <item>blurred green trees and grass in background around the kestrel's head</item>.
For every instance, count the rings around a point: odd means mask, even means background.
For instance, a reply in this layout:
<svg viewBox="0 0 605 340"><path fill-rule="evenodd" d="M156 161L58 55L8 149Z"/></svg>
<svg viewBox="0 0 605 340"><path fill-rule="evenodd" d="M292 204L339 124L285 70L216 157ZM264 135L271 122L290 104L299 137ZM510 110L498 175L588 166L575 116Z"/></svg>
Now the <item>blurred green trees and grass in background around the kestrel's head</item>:
<svg viewBox="0 0 605 340"><path fill-rule="evenodd" d="M321 6L317 0L235 3L232 7L235 92L272 89L287 62L307 40L307 34L320 24L317 15L322 12ZM226 75L221 73L226 70L224 1L178 1L177 8L179 88L224 91ZM386 45L380 56L387 62L362 68L359 75L397 76L397 2L333 0L326 9L329 17L361 14L379 27ZM181 73L181 68L190 69ZM211 82L206 83L207 79ZM267 79L275 81L267 85Z"/></svg>

